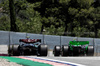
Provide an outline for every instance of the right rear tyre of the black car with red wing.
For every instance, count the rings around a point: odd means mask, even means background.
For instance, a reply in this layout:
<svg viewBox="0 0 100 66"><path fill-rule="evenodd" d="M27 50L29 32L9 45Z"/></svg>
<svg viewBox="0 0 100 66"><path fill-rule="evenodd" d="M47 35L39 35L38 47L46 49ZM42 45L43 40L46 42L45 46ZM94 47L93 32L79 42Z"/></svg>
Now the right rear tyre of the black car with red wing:
<svg viewBox="0 0 100 66"><path fill-rule="evenodd" d="M48 54L48 46L45 45L45 44L39 45L38 53L40 54L39 56L47 56L47 54Z"/></svg>

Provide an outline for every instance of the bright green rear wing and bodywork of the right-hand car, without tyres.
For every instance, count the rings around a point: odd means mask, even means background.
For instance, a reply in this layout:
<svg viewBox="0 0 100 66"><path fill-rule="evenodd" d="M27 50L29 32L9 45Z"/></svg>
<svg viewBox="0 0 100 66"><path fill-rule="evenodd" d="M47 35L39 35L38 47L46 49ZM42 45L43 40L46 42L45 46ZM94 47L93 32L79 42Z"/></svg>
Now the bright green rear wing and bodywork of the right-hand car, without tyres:
<svg viewBox="0 0 100 66"><path fill-rule="evenodd" d="M85 50L88 49L88 45L89 45L89 41L70 41L69 42L69 47L70 47L70 50L73 50L73 46L74 47L82 47L82 46L85 46Z"/></svg>

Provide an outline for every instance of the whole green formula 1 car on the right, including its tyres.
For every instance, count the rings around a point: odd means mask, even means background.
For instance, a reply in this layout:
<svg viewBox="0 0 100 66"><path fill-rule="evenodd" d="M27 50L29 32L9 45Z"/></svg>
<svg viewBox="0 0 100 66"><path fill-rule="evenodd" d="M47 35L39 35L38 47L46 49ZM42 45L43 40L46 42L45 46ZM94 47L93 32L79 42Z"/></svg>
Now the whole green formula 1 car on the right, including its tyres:
<svg viewBox="0 0 100 66"><path fill-rule="evenodd" d="M93 56L94 46L89 45L89 41L70 41L68 45L55 46L53 54L54 56Z"/></svg>

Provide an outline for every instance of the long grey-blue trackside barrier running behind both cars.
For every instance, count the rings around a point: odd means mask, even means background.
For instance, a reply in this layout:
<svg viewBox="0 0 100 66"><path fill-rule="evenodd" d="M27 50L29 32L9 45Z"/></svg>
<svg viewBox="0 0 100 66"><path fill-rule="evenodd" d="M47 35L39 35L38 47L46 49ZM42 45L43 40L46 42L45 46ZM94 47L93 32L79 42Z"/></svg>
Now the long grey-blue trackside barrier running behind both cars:
<svg viewBox="0 0 100 66"><path fill-rule="evenodd" d="M95 55L100 55L99 38L70 37L0 31L0 45L19 44L19 39L25 39L26 36L30 36L31 39L41 39L43 44L48 44L49 50L53 50L55 45L68 45L69 41L73 41L74 39L78 41L89 41L90 45L94 45Z"/></svg>

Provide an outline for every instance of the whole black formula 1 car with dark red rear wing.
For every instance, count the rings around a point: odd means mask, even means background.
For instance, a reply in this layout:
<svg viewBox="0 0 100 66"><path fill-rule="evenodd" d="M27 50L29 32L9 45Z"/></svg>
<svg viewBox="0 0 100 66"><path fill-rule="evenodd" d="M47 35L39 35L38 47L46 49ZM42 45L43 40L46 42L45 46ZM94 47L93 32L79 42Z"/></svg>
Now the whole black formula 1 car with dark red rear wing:
<svg viewBox="0 0 100 66"><path fill-rule="evenodd" d="M8 45L9 56L37 55L47 56L48 46L41 44L41 39L20 39L20 44Z"/></svg>

